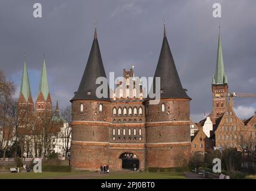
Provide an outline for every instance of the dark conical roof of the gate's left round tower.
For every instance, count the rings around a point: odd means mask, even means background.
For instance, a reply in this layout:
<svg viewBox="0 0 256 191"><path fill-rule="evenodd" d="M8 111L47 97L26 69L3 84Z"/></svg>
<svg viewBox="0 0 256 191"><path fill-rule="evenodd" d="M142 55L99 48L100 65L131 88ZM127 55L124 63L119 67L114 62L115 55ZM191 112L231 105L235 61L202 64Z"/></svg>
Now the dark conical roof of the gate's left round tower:
<svg viewBox="0 0 256 191"><path fill-rule="evenodd" d="M83 77L81 79L78 91L75 93L73 100L104 100L110 101L109 99L109 86L108 86L108 98L97 98L96 89L100 86L96 85L96 79L99 77L105 77L106 73L102 63L100 55L99 42L97 41L97 32L95 29L95 36L93 39L92 49L89 54L89 58L84 70ZM90 92L90 94L89 94Z"/></svg>

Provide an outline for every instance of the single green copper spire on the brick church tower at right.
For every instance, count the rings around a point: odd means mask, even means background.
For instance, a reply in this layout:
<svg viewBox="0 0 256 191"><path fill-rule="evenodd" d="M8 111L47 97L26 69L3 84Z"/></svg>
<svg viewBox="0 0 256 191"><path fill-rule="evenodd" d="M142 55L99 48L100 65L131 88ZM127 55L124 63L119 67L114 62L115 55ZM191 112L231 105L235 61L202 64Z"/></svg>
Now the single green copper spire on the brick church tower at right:
<svg viewBox="0 0 256 191"><path fill-rule="evenodd" d="M214 85L227 84L227 75L225 74L225 69L224 69L223 48L221 45L220 33L218 38L217 63L216 63L216 71L215 71L214 78L215 78Z"/></svg>

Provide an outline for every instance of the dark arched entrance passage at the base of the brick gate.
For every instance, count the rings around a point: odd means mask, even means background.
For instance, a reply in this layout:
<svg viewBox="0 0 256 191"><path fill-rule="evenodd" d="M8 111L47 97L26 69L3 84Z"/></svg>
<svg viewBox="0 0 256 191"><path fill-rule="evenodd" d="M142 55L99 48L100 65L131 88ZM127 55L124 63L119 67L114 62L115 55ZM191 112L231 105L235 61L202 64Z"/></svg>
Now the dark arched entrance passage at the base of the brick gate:
<svg viewBox="0 0 256 191"><path fill-rule="evenodd" d="M125 152L122 153L119 158L122 159L123 169L133 170L136 166L136 169L139 170L139 159L134 153Z"/></svg>

